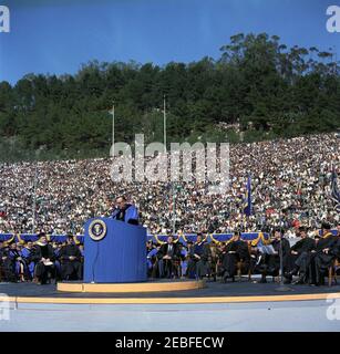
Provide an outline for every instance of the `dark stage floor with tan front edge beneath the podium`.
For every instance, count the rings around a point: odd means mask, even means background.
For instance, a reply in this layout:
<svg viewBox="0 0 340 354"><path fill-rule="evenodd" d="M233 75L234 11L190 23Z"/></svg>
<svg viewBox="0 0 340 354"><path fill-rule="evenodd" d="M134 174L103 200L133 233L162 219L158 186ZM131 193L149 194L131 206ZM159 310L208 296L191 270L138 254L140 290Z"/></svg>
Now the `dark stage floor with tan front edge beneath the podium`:
<svg viewBox="0 0 340 354"><path fill-rule="evenodd" d="M193 284L194 283L194 284ZM74 291L82 283L68 282L73 291L58 291L56 285L37 285L33 283L0 283L0 293L7 294L14 303L64 303L64 304L190 304L190 303L254 303L254 302L285 302L312 301L340 298L340 285L309 287L290 285L291 291L277 291L279 284L251 283L247 280L239 282L190 282L190 281L154 281L144 283L158 291L141 292L82 292ZM91 284L92 285L92 284ZM97 284L93 284L97 285ZM114 284L117 285L117 284ZM123 284L119 284L123 285ZM124 284L131 285L131 284ZM141 284L138 284L141 285ZM190 290L176 290L178 287L194 287ZM163 291L171 289L172 291ZM81 288L78 288L81 289ZM125 288L127 289L127 288ZM95 290L92 289L92 290ZM145 289L144 289L145 290Z"/></svg>

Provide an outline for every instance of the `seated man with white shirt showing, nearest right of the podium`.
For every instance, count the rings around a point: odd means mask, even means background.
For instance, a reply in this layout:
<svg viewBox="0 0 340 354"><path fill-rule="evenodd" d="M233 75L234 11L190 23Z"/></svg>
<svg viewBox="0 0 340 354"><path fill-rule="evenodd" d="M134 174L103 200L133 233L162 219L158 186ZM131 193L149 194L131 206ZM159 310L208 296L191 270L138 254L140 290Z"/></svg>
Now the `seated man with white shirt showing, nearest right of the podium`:
<svg viewBox="0 0 340 354"><path fill-rule="evenodd" d="M159 278L178 275L176 274L174 262L179 260L179 256L177 243L175 243L174 238L169 236L167 242L163 243L157 252Z"/></svg>

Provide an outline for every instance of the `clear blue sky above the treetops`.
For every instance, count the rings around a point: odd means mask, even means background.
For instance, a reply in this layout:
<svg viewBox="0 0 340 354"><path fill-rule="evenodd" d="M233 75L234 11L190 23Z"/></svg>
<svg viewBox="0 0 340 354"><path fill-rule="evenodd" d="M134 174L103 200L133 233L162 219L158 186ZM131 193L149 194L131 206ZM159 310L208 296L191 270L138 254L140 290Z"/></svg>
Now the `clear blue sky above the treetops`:
<svg viewBox="0 0 340 354"><path fill-rule="evenodd" d="M337 3L338 2L338 3ZM190 62L219 56L239 32L277 34L288 45L336 46L326 10L340 0L0 0L0 81L28 73L75 73L90 60ZM339 55L340 58L340 55Z"/></svg>

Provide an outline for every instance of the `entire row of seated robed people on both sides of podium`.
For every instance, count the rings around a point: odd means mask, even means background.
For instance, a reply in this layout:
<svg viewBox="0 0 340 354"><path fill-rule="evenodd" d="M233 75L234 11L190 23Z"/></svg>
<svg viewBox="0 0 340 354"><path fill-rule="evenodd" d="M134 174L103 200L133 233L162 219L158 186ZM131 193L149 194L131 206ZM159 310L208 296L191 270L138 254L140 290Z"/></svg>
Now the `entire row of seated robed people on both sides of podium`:
<svg viewBox="0 0 340 354"><path fill-rule="evenodd" d="M307 236L301 227L300 240L290 247L284 232L276 229L269 242L254 244L240 239L236 232L226 243L206 243L198 235L195 243L176 242L172 236L163 244L147 243L147 268L150 278L202 279L220 277L223 281L235 280L238 274L277 277L280 270L280 250L286 282L321 284L324 272L340 258L340 227L338 236L330 226L322 225L321 237ZM81 280L83 277L83 246L76 246L69 236L65 244L51 244L44 233L39 241L24 247L0 241L0 280L34 281L47 283L55 280ZM297 277L293 279L293 277Z"/></svg>

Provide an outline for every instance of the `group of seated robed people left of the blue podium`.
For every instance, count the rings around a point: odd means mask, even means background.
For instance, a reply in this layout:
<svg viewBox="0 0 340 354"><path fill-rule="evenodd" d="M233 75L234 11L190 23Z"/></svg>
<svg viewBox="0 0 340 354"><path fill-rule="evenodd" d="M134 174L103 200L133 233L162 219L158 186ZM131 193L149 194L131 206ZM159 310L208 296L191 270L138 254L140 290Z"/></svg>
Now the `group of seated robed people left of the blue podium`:
<svg viewBox="0 0 340 354"><path fill-rule="evenodd" d="M83 277L82 246L70 235L64 243L51 243L45 233L39 241L24 247L0 241L0 281L50 283L52 280L81 280Z"/></svg>

